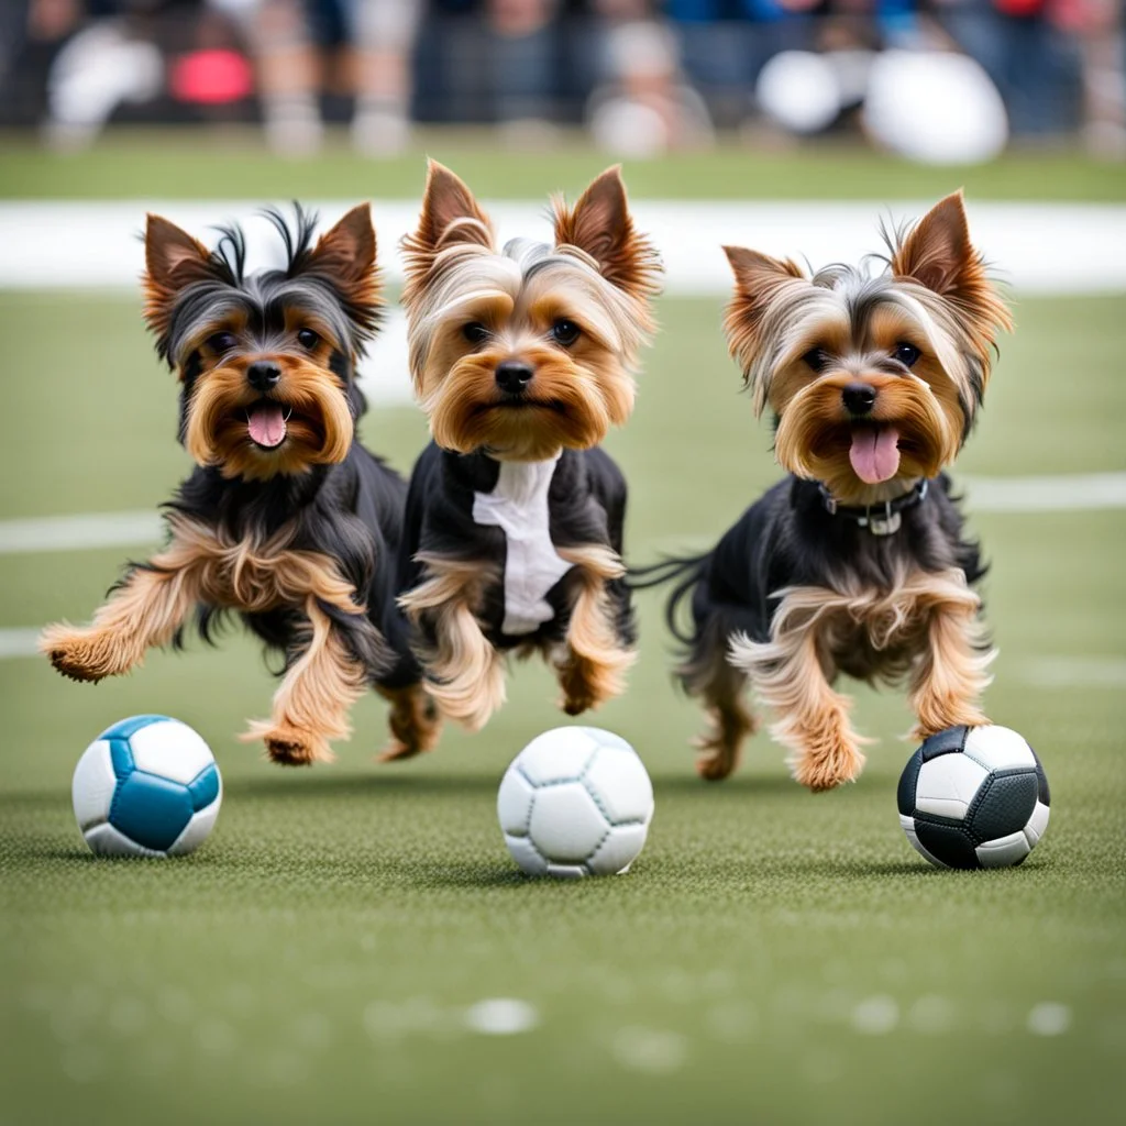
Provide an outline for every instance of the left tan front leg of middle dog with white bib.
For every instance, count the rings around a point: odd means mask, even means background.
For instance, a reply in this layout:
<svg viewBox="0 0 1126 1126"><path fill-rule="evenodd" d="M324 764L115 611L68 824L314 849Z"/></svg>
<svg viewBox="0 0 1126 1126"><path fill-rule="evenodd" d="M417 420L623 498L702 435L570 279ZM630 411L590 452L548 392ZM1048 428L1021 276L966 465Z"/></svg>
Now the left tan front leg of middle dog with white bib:
<svg viewBox="0 0 1126 1126"><path fill-rule="evenodd" d="M418 654L426 690L443 714L480 731L506 697L503 660L474 614L484 586L495 575L465 560L420 554L419 561L426 578L402 595L399 605L430 635Z"/></svg>

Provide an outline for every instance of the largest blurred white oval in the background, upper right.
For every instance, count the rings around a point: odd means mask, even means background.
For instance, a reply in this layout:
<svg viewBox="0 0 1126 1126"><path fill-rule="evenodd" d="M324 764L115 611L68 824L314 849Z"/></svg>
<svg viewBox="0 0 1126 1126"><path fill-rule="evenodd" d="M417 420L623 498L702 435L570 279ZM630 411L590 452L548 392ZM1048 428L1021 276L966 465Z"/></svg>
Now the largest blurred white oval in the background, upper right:
<svg viewBox="0 0 1126 1126"><path fill-rule="evenodd" d="M1001 95L973 59L886 51L873 63L864 104L868 135L924 164L992 160L1009 140Z"/></svg>

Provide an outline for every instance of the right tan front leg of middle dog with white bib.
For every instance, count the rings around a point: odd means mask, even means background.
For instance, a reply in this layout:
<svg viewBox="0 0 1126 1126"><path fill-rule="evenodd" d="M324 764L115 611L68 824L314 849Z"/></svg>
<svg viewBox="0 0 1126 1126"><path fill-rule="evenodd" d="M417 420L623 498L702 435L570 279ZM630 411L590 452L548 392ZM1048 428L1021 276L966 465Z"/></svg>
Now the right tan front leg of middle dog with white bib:
<svg viewBox="0 0 1126 1126"><path fill-rule="evenodd" d="M618 554L599 544L557 551L574 564L578 586L566 642L555 662L563 689L560 707L568 715L580 715L625 691L626 670L637 654L619 635L618 608L607 587L625 574Z"/></svg>

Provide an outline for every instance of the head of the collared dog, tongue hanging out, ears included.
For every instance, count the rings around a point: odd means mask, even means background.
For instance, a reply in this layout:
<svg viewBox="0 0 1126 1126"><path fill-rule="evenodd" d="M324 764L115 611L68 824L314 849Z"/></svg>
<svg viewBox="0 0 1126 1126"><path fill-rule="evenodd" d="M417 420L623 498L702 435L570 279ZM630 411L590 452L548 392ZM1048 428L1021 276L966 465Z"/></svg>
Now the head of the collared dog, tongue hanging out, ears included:
<svg viewBox="0 0 1126 1126"><path fill-rule="evenodd" d="M754 409L777 415L778 462L844 503L931 477L962 448L1009 312L969 243L960 194L896 240L887 270L726 248L725 330Z"/></svg>

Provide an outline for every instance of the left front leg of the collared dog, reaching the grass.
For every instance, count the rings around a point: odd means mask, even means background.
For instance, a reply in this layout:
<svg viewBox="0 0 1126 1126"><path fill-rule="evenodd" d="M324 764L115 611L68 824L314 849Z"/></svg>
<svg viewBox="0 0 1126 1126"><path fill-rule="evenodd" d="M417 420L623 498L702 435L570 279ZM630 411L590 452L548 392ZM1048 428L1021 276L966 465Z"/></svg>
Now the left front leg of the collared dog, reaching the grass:
<svg viewBox="0 0 1126 1126"><path fill-rule="evenodd" d="M732 638L730 660L772 708L770 733L789 748L794 778L812 790L852 781L864 767L863 740L849 720L851 700L833 691L817 652L816 618L797 622L780 608L771 640Z"/></svg>

